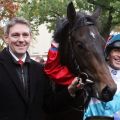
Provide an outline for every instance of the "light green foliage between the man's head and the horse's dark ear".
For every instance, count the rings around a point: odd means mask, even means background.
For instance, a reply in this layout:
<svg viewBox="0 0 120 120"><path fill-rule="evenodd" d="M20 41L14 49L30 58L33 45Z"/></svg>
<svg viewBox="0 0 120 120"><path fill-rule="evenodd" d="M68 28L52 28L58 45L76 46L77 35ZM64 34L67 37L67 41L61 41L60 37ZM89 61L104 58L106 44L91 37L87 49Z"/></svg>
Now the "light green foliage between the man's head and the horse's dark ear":
<svg viewBox="0 0 120 120"><path fill-rule="evenodd" d="M67 3L68 0L28 0L25 4L21 4L18 16L29 19L35 31L43 23L47 23L51 31L54 29L57 17L66 13Z"/></svg>

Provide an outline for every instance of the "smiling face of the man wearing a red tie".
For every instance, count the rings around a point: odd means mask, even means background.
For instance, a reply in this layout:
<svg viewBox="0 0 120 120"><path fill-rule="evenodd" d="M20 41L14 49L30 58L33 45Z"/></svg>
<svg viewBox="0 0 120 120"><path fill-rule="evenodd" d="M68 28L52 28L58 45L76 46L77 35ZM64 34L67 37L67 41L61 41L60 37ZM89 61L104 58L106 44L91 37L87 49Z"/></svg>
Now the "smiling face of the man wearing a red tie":
<svg viewBox="0 0 120 120"><path fill-rule="evenodd" d="M24 24L14 25L10 28L9 34L6 36L9 48L18 58L26 53L31 39L30 29Z"/></svg>

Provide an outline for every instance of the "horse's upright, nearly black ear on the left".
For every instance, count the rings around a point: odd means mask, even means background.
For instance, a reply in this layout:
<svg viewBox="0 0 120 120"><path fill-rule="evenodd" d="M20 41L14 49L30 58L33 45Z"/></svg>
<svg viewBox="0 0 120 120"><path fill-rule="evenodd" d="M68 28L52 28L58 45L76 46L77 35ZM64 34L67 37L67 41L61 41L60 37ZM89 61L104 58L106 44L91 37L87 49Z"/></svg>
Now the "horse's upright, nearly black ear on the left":
<svg viewBox="0 0 120 120"><path fill-rule="evenodd" d="M73 5L73 2L70 2L67 7L67 18L70 24L74 23L74 20L76 18L76 11Z"/></svg>

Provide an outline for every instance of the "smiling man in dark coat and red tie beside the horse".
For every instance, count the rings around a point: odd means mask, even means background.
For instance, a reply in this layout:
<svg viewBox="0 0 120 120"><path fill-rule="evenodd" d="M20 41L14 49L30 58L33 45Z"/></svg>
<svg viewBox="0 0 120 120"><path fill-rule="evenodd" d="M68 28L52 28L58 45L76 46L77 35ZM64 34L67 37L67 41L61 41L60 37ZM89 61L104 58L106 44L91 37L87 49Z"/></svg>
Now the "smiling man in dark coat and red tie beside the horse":
<svg viewBox="0 0 120 120"><path fill-rule="evenodd" d="M52 92L43 65L30 59L32 39L29 23L13 18L5 28L8 46L0 53L0 120L43 120L47 113L61 111L75 98L75 80L60 93ZM70 94L69 94L70 93Z"/></svg>

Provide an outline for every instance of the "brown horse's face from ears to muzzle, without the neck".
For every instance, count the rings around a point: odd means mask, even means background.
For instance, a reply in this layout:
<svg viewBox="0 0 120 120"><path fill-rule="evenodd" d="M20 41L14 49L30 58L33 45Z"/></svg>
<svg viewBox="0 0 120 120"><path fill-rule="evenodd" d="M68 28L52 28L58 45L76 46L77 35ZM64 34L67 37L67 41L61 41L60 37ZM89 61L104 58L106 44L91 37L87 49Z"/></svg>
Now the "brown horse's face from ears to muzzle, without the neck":
<svg viewBox="0 0 120 120"><path fill-rule="evenodd" d="M76 62L74 64L95 82L96 97L103 101L111 100L116 91L116 84L104 58L105 41L96 27L100 9L89 16L76 13L73 4L70 3L67 10L69 43L73 49L72 54Z"/></svg>

